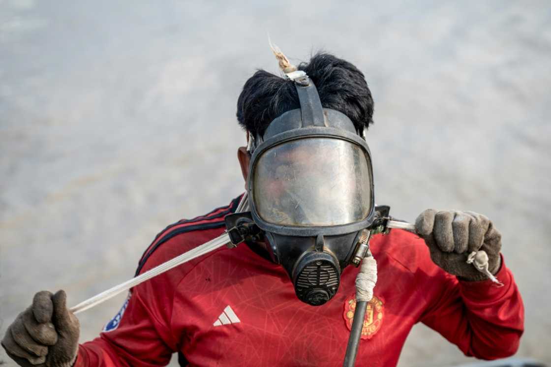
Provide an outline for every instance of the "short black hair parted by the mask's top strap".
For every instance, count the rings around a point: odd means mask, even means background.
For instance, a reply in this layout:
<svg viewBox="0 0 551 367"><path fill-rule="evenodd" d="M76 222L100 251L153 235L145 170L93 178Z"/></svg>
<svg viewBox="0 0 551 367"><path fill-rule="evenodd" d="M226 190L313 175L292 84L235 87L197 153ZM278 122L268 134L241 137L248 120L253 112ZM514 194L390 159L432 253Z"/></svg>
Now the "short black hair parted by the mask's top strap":
<svg viewBox="0 0 551 367"><path fill-rule="evenodd" d="M347 115L358 131L373 122L371 91L364 74L353 64L329 53L317 53L298 69L316 85L323 107ZM293 82L258 70L245 82L237 99L237 121L254 136L263 134L274 118L299 108Z"/></svg>

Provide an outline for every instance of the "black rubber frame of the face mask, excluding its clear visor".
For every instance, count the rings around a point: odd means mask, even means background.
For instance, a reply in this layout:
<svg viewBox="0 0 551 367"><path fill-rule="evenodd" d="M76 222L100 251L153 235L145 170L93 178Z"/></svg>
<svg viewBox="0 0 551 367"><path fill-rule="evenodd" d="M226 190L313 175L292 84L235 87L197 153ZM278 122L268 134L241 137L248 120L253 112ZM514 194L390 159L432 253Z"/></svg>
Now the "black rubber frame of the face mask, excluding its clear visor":
<svg viewBox="0 0 551 367"><path fill-rule="evenodd" d="M340 273L352 260L361 232L375 220L371 152L363 137L363 131L357 131L350 118L341 112L324 109L314 83L304 72L295 73L301 73L299 77L291 79L294 80L298 92L300 109L285 112L275 118L262 135L253 137L246 189L251 217L268 239L268 252L272 260L287 270L295 284L295 292L299 299L311 305L321 305L336 293ZM252 181L258 159L267 149L276 145L295 139L315 137L341 139L361 148L369 168L369 178L366 180L369 182L365 182L366 185L370 185L369 214L358 222L331 226L307 227L266 222L258 214ZM309 267L313 269L315 264L318 265L318 285L320 272L326 274L329 280L314 292L305 282L309 281Z"/></svg>

